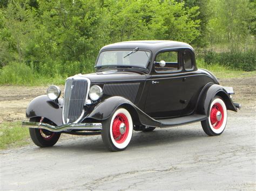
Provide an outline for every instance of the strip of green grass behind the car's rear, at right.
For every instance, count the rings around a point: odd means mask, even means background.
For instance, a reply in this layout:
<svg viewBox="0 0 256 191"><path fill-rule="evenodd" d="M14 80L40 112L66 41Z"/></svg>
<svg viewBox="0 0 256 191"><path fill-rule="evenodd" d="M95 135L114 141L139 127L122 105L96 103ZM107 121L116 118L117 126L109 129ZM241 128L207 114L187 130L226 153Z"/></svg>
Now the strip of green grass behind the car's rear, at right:
<svg viewBox="0 0 256 191"><path fill-rule="evenodd" d="M221 79L231 78L231 77L253 77L256 76L256 71L245 72L243 70L234 70L218 63L207 65L204 60L197 60L197 67L204 68L212 72L216 77Z"/></svg>

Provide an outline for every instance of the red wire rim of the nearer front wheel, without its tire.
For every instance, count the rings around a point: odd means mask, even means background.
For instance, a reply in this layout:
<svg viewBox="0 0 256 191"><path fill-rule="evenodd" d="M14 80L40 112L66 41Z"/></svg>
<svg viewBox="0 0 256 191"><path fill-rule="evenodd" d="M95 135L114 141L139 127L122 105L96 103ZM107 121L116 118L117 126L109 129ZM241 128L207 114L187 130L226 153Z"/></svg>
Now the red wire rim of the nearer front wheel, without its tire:
<svg viewBox="0 0 256 191"><path fill-rule="evenodd" d="M124 114L114 117L112 125L113 138L117 143L124 143L129 133L129 121Z"/></svg>

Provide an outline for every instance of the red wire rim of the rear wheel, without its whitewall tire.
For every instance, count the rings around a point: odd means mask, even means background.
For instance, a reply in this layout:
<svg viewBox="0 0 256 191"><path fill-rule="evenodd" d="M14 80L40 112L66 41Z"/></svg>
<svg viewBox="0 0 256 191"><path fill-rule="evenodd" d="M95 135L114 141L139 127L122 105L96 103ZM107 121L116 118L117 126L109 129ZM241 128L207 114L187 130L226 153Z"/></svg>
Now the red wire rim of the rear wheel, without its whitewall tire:
<svg viewBox="0 0 256 191"><path fill-rule="evenodd" d="M214 103L210 112L210 121L214 129L219 129L224 121L224 110L220 103Z"/></svg>

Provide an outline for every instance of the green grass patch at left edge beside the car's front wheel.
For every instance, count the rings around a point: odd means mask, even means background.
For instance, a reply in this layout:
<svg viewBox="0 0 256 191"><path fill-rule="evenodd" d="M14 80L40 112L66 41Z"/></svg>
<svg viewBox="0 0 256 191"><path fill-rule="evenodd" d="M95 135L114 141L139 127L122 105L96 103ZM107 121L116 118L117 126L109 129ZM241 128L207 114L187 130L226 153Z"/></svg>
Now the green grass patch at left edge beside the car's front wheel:
<svg viewBox="0 0 256 191"><path fill-rule="evenodd" d="M29 129L21 122L3 122L0 124L0 149L29 144Z"/></svg>

